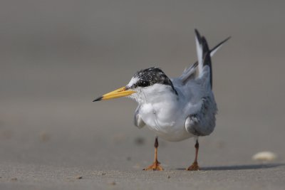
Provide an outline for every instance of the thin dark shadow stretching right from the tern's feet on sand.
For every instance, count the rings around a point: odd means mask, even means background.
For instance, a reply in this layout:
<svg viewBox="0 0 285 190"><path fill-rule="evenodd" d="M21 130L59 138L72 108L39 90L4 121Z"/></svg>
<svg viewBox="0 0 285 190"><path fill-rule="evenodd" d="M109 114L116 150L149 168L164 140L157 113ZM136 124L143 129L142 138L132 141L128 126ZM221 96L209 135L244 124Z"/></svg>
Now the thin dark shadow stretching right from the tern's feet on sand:
<svg viewBox="0 0 285 190"><path fill-rule="evenodd" d="M219 171L219 170L241 170L241 169L266 169L273 167L284 166L285 164L247 164L247 165L233 165L221 167L201 167L201 171ZM185 168L177 168L177 170L185 170Z"/></svg>

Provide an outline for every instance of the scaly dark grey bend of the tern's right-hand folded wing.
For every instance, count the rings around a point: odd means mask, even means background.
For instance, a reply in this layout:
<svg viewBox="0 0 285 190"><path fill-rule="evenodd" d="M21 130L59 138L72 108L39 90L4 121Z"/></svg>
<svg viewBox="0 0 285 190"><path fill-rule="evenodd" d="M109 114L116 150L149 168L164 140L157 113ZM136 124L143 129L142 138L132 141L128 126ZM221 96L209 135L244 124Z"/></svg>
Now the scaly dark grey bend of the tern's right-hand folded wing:
<svg viewBox="0 0 285 190"><path fill-rule="evenodd" d="M187 132L196 136L206 136L213 132L216 125L217 105L214 97L207 96L202 98L200 109L188 115L185 121Z"/></svg>

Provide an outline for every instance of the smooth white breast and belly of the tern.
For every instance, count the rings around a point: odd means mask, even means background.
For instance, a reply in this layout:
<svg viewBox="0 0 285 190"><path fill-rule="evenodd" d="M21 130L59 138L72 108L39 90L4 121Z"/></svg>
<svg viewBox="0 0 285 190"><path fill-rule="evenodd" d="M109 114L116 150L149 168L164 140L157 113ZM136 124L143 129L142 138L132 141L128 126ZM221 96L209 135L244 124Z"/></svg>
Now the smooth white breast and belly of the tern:
<svg viewBox="0 0 285 190"><path fill-rule="evenodd" d="M179 93L179 92L178 92ZM181 141L193 137L185 129L187 112L185 98L167 85L155 84L141 88L133 97L140 104L140 117L157 136L168 141Z"/></svg>

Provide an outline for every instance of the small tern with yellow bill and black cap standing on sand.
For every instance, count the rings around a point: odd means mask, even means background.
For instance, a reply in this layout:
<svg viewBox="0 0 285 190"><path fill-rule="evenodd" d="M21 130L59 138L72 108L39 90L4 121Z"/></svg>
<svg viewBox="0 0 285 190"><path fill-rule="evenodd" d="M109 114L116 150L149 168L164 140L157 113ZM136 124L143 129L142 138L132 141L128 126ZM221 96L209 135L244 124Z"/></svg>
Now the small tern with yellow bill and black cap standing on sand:
<svg viewBox="0 0 285 190"><path fill-rule="evenodd" d="M155 132L155 159L144 170L164 170L157 160L158 137L170 142L195 138L195 159L186 170L197 171L199 142L198 138L214 131L217 103L212 91L211 57L224 41L209 49L204 36L195 29L197 61L185 68L177 78L169 78L156 67L139 70L130 82L102 95L93 102L110 100L117 97L130 97L138 102L134 124L138 128L145 125Z"/></svg>

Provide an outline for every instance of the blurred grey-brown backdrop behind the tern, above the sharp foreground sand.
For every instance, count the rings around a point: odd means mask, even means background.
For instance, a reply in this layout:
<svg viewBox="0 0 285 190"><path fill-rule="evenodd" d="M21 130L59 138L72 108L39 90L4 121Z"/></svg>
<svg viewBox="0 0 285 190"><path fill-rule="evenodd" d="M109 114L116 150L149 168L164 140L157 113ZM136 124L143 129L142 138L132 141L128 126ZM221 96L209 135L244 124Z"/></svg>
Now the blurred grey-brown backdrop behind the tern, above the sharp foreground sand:
<svg viewBox="0 0 285 190"><path fill-rule="evenodd" d="M133 125L136 103L92 102L142 68L169 77L210 47L217 127L200 140L204 167L285 160L284 1L7 1L0 3L0 161L142 169L155 134ZM194 140L160 140L168 169L187 167Z"/></svg>

